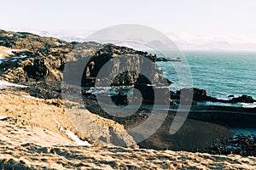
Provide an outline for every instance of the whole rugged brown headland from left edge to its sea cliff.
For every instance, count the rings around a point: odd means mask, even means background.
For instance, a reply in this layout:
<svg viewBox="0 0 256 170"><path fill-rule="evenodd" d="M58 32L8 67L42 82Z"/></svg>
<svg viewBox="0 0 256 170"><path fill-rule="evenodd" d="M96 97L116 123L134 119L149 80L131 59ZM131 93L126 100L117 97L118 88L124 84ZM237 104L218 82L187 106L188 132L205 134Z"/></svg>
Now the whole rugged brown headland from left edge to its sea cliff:
<svg viewBox="0 0 256 170"><path fill-rule="evenodd" d="M1 59L0 76L9 82L34 82L34 81L61 81L63 69L67 62L82 63L84 74L82 84L94 86L98 72L110 59L119 55L140 55L150 59L152 65L147 65L147 71L152 71L150 78L154 82L163 82L155 65L156 56L132 48L118 47L113 44L101 45L96 42L65 42L53 37L39 37L25 32L0 31L0 47L9 48L9 56ZM91 57L89 62L86 61ZM139 74L143 66L143 59L129 58L120 65L120 59L112 62L107 68L106 76L119 72L120 67L126 70L114 77L112 85L134 85L135 82L146 83L147 80ZM76 73L74 66L73 72ZM154 72L153 72L154 71ZM76 77L76 75L73 75Z"/></svg>

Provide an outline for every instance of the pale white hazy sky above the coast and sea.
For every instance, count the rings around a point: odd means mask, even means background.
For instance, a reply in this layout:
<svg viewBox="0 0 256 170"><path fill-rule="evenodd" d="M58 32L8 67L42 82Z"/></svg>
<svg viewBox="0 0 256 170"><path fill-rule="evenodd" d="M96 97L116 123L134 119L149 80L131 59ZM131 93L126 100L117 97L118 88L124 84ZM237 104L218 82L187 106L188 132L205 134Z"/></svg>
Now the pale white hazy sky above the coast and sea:
<svg viewBox="0 0 256 170"><path fill-rule="evenodd" d="M139 24L187 48L242 49L256 44L255 9L254 0L8 0L1 2L0 29L79 36L108 26Z"/></svg>

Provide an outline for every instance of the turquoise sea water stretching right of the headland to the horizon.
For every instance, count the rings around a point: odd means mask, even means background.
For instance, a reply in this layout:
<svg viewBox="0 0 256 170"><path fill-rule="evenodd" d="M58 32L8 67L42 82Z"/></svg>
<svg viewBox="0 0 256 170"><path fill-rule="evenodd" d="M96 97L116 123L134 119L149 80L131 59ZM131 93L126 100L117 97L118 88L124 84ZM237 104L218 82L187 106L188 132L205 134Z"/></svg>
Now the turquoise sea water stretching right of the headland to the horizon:
<svg viewBox="0 0 256 170"><path fill-rule="evenodd" d="M247 94L256 99L256 52L185 51L183 54L194 88L205 89L208 95L218 99L229 99L231 94ZM157 62L157 65L172 80L172 90L183 88L174 69L174 65L182 66L181 62Z"/></svg>

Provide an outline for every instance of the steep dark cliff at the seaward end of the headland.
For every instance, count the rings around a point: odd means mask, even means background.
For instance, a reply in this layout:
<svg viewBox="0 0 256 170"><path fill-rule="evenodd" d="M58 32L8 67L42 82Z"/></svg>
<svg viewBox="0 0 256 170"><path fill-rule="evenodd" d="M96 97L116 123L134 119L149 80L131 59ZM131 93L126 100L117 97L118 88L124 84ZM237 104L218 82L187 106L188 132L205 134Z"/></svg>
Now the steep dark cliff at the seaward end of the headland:
<svg viewBox="0 0 256 170"><path fill-rule="evenodd" d="M151 54L132 48L119 47L113 44L104 45L99 48L88 65L85 66L82 85L94 86L96 77L100 79L100 86L171 83L162 77L161 71L155 65L155 58ZM148 62L148 59L151 62ZM98 75L99 71L103 74L101 77ZM142 71L147 73L146 77L141 73Z"/></svg>

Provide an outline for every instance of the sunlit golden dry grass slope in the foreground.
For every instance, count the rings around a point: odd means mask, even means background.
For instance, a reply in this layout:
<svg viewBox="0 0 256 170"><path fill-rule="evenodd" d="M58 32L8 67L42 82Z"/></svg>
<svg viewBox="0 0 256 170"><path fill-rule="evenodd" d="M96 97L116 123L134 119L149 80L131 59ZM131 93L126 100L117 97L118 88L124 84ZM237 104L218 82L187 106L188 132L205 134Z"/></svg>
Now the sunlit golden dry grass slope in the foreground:
<svg viewBox="0 0 256 170"><path fill-rule="evenodd" d="M84 147L58 130L71 127L61 100L0 92L0 168L3 169L255 169L255 157L212 156L172 150ZM60 105L56 105L60 104ZM98 120L99 121L99 120ZM109 126L110 122L101 122Z"/></svg>

